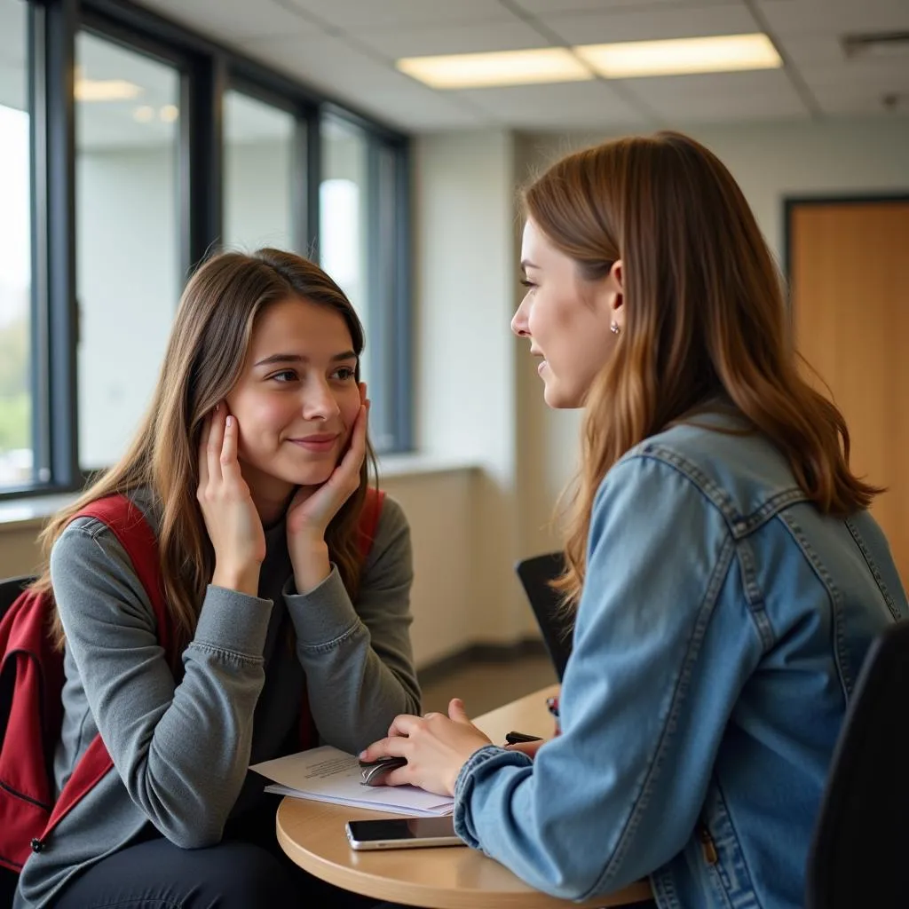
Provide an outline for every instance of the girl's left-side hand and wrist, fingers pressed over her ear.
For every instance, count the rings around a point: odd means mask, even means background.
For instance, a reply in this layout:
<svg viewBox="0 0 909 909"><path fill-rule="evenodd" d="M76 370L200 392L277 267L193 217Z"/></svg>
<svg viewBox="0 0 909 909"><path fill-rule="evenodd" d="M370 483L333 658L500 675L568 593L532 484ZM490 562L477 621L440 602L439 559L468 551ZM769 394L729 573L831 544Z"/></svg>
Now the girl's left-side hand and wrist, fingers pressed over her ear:
<svg viewBox="0 0 909 909"><path fill-rule="evenodd" d="M196 498L215 548L212 584L255 596L265 559L265 531L236 458L239 427L224 402L205 419Z"/></svg>

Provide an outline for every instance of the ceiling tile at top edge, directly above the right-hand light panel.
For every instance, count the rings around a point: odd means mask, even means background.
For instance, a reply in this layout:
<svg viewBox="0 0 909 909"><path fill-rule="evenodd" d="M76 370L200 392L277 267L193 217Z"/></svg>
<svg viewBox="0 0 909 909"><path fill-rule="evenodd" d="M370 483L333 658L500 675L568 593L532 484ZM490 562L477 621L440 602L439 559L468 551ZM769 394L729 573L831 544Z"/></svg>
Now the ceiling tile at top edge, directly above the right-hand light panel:
<svg viewBox="0 0 909 909"><path fill-rule="evenodd" d="M738 35L758 30L754 17L741 3L634 13L541 15L539 19L569 45Z"/></svg>

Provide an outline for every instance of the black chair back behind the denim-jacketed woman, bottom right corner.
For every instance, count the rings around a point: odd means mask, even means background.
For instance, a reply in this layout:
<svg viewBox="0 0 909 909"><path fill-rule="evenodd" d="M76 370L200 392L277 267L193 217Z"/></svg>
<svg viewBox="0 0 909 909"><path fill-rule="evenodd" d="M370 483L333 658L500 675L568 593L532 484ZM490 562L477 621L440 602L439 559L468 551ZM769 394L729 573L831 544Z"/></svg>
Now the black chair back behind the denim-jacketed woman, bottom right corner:
<svg viewBox="0 0 909 909"><path fill-rule="evenodd" d="M909 621L868 650L834 751L806 909L909 906Z"/></svg>

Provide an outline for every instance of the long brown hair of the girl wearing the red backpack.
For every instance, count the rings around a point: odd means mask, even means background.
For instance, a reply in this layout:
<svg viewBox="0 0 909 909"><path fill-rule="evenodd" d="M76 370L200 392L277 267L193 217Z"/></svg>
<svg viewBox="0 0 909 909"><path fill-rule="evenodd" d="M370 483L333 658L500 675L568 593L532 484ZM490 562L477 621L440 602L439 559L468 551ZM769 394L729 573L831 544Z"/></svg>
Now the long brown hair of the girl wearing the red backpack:
<svg viewBox="0 0 909 909"><path fill-rule="evenodd" d="M224 253L209 259L186 285L155 395L126 454L74 504L56 514L42 532L44 564L36 589L53 593L50 551L75 514L96 499L145 488L152 494L159 520L161 577L175 639L182 650L195 632L205 586L215 570L215 551L195 497L205 416L239 379L256 316L265 306L288 297L305 299L341 315L356 355L362 354L363 326L354 307L318 265L276 249L260 249L253 255ZM357 381L359 378L357 363ZM355 531L370 464L375 471L375 455L367 443L359 488L325 534L329 554L351 596L359 582ZM63 626L56 613L52 633L62 645Z"/></svg>

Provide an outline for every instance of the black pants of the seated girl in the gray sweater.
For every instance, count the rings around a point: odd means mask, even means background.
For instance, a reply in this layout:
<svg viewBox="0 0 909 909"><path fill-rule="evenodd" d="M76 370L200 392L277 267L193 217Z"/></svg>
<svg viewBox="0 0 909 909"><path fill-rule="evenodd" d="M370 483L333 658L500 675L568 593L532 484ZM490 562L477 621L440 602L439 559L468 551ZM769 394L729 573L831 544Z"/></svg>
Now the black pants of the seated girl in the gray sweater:
<svg viewBox="0 0 909 909"><path fill-rule="evenodd" d="M149 834L65 887L55 909L370 909L376 901L297 867L275 839L277 801L229 824L221 843L181 849Z"/></svg>

